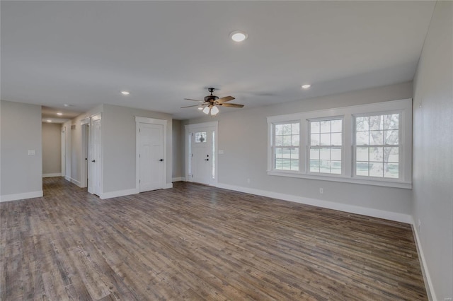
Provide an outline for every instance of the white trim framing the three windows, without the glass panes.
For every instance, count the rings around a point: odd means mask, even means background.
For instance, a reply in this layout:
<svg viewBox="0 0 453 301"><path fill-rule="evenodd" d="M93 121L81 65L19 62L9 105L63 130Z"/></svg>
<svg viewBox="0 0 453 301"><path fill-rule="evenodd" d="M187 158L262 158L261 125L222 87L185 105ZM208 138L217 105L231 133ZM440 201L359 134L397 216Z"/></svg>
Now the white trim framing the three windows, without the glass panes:
<svg viewBox="0 0 453 301"><path fill-rule="evenodd" d="M354 117L360 114L383 114L401 112L401 179L387 179L355 176L352 167L355 156L352 152L354 143ZM342 174L315 174L307 167L307 146L309 146L309 119L343 117ZM273 168L273 124L300 121L299 171L275 170ZM268 117L268 175L319 179L323 181L347 182L385 187L412 188L412 99L377 102L369 105L339 107L328 110L301 112ZM302 144L304 143L304 144Z"/></svg>

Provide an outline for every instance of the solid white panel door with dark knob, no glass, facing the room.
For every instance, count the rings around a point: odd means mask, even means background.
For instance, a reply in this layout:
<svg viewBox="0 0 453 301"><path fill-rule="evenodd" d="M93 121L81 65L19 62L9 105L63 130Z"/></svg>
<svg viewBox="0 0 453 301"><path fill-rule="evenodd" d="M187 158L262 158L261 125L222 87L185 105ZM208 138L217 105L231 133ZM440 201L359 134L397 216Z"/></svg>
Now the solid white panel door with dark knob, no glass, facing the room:
<svg viewBox="0 0 453 301"><path fill-rule="evenodd" d="M139 123L139 191L164 188L164 126Z"/></svg>

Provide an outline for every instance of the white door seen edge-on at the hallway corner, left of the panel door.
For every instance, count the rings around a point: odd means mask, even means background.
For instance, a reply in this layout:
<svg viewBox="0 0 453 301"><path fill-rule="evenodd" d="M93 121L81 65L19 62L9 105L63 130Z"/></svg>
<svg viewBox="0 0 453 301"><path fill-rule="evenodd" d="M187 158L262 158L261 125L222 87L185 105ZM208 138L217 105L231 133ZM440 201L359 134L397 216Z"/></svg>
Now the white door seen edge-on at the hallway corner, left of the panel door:
<svg viewBox="0 0 453 301"><path fill-rule="evenodd" d="M88 192L102 193L101 114L91 117L90 157L88 162Z"/></svg>

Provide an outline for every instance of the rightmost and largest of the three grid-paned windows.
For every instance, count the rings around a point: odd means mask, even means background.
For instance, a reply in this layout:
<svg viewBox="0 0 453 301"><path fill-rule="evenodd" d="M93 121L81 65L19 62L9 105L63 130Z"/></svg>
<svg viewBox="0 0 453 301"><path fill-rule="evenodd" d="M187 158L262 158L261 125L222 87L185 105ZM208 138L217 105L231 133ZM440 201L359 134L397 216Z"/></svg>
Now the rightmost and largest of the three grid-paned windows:
<svg viewBox="0 0 453 301"><path fill-rule="evenodd" d="M399 178L400 114L355 117L355 175Z"/></svg>

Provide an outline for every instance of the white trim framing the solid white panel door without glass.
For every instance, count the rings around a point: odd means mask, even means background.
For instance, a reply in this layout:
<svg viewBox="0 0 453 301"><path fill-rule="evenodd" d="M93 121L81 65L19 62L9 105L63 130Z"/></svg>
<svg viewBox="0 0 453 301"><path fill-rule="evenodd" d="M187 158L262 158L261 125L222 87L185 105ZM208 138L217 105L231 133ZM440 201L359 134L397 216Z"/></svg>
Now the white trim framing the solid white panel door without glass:
<svg viewBox="0 0 453 301"><path fill-rule="evenodd" d="M140 189L140 184L139 184L139 179L140 179L140 160L139 160L139 151L140 151L140 139L139 139L139 129L140 129L140 123L143 124L160 124L164 126L164 181L163 189L168 188L167 187L167 120L166 119L156 119L156 118L149 118L149 117L140 117L136 116L135 117L135 189L139 191Z"/></svg>

